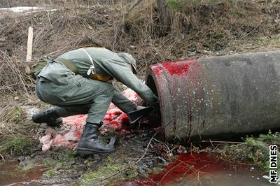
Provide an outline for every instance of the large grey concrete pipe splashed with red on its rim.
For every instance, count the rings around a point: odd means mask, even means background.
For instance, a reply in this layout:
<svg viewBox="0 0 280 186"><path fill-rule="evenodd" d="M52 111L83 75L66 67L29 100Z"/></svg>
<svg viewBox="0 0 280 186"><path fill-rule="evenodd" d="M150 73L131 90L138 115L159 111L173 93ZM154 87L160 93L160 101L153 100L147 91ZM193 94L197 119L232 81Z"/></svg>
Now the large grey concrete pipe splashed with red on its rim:
<svg viewBox="0 0 280 186"><path fill-rule="evenodd" d="M280 128L280 51L161 62L148 67L146 83L167 139Z"/></svg>

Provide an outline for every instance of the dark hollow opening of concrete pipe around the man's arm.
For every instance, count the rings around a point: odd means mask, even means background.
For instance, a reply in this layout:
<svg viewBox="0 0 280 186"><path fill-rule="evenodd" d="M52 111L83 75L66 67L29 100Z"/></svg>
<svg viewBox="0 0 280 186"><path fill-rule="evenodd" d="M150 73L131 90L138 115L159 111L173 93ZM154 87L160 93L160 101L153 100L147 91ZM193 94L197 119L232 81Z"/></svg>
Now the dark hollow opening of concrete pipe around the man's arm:
<svg viewBox="0 0 280 186"><path fill-rule="evenodd" d="M147 85L153 91L153 93L158 96L157 85L155 85L155 80L151 75L149 75L147 78ZM155 127L160 127L162 125L162 117L160 111L161 110L153 111L150 113L151 124L153 124Z"/></svg>

